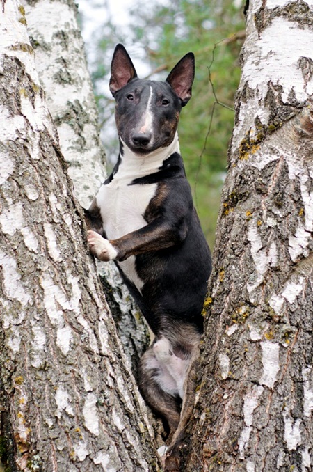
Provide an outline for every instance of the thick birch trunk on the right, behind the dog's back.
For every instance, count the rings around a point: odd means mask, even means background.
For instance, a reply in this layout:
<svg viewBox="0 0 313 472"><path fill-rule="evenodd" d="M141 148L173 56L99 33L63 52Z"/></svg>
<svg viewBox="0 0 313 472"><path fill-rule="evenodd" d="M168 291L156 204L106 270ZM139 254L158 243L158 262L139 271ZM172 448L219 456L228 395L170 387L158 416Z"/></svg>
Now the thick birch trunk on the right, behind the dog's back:
<svg viewBox="0 0 313 472"><path fill-rule="evenodd" d="M312 0L250 0L184 471L313 469L312 45Z"/></svg>

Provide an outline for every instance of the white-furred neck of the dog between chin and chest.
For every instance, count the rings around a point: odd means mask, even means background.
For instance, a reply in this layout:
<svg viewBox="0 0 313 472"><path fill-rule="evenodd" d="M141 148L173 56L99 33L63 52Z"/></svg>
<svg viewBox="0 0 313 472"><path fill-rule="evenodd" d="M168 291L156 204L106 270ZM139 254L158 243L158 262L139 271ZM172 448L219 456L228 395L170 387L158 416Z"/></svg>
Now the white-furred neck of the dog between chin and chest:
<svg viewBox="0 0 313 472"><path fill-rule="evenodd" d="M166 148L159 148L145 155L136 154L127 147L122 139L120 141L122 143L121 160L115 177L132 179L150 175L159 171L163 162L174 152L180 154L177 132L170 145L166 146Z"/></svg>

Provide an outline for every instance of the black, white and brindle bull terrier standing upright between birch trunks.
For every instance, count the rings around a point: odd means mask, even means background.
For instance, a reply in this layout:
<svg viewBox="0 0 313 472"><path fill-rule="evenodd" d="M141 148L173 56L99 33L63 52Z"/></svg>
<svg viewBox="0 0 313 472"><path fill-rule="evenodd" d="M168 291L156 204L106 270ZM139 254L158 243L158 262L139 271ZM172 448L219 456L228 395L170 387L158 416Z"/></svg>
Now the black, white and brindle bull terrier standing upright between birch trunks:
<svg viewBox="0 0 313 472"><path fill-rule="evenodd" d="M191 413L191 371L211 272L177 135L194 74L190 52L166 81L139 79L125 47L115 47L109 88L120 154L86 214L90 252L116 262L154 333L139 363L139 388L168 423L168 457Z"/></svg>

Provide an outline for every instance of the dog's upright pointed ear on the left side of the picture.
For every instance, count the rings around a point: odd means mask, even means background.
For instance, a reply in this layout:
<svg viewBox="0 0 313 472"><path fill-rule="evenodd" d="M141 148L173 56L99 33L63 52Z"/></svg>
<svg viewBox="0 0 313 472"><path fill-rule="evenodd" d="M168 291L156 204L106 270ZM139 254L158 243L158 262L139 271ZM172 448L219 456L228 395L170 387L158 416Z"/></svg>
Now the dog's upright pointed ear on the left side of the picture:
<svg viewBox="0 0 313 472"><path fill-rule="evenodd" d="M124 87L131 79L137 77L134 64L123 45L117 45L114 49L111 63L111 79L109 88L114 96L115 92Z"/></svg>

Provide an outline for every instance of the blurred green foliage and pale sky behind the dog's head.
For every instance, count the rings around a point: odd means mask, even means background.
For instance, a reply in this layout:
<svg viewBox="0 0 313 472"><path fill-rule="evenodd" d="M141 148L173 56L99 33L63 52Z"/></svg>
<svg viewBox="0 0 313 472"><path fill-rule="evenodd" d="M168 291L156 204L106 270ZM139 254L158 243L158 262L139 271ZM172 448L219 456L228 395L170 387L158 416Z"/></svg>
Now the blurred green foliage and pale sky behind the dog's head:
<svg viewBox="0 0 313 472"><path fill-rule="evenodd" d="M238 3L238 1L236 2ZM152 71L166 79L175 63L188 51L196 60L193 99L182 110L179 139L186 173L195 192L195 203L209 244L214 233L220 188L226 173L227 146L232 134L234 94L239 84L239 52L243 41L242 7L234 0L174 0L138 3L131 8L129 31L118 32L106 24L99 40L98 65L93 74L96 93L109 74L113 45L138 45L145 49ZM110 52L107 57L108 50ZM131 52L131 57L134 55ZM134 58L136 65L136 57ZM109 79L109 77L107 77ZM98 93L102 120L112 109Z"/></svg>

